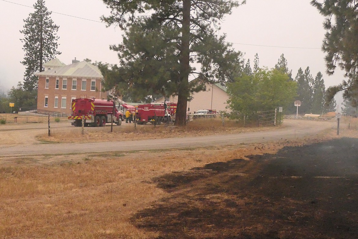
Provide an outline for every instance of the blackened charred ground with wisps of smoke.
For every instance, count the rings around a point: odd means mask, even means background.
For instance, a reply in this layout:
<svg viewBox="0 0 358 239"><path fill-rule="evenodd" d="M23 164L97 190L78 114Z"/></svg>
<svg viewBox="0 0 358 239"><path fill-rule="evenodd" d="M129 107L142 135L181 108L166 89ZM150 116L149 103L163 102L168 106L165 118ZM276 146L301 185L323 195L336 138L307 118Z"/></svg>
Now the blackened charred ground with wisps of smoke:
<svg viewBox="0 0 358 239"><path fill-rule="evenodd" d="M132 222L157 238L358 238L357 147L333 139L157 177L171 196Z"/></svg>

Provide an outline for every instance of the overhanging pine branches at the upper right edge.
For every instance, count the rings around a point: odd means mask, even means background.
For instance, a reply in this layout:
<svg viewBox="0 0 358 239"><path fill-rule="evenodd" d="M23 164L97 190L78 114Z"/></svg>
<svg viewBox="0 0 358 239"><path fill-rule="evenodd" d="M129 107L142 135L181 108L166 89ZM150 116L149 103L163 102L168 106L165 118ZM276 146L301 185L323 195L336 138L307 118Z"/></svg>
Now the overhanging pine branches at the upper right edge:
<svg viewBox="0 0 358 239"><path fill-rule="evenodd" d="M339 67L347 77L339 85L327 89L326 102L339 91L343 91L344 99L349 99L349 94L358 89L357 0L312 0L311 4L326 17L324 28L327 32L322 44L322 51L326 53L326 73L333 75Z"/></svg>

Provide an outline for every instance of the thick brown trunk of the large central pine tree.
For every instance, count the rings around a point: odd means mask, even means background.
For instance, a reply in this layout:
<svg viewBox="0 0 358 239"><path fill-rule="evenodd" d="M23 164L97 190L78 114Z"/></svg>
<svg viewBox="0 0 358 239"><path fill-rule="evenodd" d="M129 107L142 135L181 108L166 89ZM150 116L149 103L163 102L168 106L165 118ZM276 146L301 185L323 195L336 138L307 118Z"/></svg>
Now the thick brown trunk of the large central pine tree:
<svg viewBox="0 0 358 239"><path fill-rule="evenodd" d="M190 46L190 0L183 0L183 25L182 25L182 54L180 58L180 82L178 90L178 105L176 106L175 125L184 126L187 114L187 103L189 97L189 46Z"/></svg>

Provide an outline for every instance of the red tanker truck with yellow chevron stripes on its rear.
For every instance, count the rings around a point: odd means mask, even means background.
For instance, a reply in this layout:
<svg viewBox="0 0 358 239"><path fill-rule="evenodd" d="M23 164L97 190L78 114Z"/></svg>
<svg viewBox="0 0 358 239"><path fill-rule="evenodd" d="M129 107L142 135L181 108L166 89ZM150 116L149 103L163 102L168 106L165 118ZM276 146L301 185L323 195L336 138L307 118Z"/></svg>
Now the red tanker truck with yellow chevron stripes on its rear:
<svg viewBox="0 0 358 239"><path fill-rule="evenodd" d="M100 100L78 98L71 102L72 113L68 116L69 122L74 126L82 126L82 119L84 119L85 126L105 126L106 123L122 124L123 111L126 109L134 111L135 107L131 105L116 105L113 115L113 100Z"/></svg>

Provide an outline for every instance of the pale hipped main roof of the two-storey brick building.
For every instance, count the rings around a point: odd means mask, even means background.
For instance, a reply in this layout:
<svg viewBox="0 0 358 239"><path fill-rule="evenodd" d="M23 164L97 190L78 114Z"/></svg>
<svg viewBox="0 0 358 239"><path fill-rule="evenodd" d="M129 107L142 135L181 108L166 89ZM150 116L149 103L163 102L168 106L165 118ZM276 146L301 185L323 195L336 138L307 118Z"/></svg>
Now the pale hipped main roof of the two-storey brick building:
<svg viewBox="0 0 358 239"><path fill-rule="evenodd" d="M36 73L36 76L57 76L57 77L91 77L103 78L97 66L81 61L71 65L53 68L48 71Z"/></svg>

